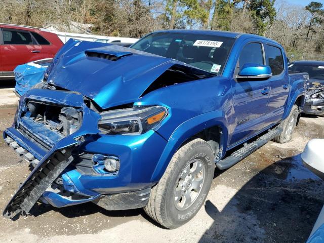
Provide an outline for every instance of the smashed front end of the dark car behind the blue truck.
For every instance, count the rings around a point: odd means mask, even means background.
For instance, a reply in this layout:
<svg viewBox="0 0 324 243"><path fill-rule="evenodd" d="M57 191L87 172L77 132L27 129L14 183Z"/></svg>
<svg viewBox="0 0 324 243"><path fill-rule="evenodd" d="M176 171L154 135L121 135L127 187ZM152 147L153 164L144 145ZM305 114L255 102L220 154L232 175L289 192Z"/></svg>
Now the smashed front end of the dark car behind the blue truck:
<svg viewBox="0 0 324 243"><path fill-rule="evenodd" d="M322 82L312 82L306 95L303 108L306 114L324 115L324 84Z"/></svg>

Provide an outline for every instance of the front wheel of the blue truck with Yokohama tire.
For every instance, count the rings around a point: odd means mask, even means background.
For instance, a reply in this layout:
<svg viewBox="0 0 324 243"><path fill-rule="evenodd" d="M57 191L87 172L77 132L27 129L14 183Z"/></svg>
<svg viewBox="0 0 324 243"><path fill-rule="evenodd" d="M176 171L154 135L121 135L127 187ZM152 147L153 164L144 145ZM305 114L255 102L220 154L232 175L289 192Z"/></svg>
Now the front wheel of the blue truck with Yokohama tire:
<svg viewBox="0 0 324 243"><path fill-rule="evenodd" d="M199 169L197 169L198 166ZM189 174L185 178L189 179L186 182L180 178L180 175L184 176L188 168L190 168ZM214 153L210 145L199 138L188 142L173 155L164 175L152 188L148 205L144 208L144 211L158 224L169 229L187 223L203 206L212 184L214 170ZM193 177L194 174L197 176ZM193 178L191 183L189 183L190 178ZM203 182L200 182L201 180ZM197 183L200 185L199 191L190 189ZM185 186L183 186L184 184ZM181 203L177 204L175 199L179 198L175 196L176 191L179 192L177 190L179 187L182 188L181 193L184 193L183 188L186 187L188 189L185 192L190 190L189 194L186 195L194 194L192 201L191 199L188 200L190 205L185 205L187 199L182 201L184 204L182 210L179 209Z"/></svg>

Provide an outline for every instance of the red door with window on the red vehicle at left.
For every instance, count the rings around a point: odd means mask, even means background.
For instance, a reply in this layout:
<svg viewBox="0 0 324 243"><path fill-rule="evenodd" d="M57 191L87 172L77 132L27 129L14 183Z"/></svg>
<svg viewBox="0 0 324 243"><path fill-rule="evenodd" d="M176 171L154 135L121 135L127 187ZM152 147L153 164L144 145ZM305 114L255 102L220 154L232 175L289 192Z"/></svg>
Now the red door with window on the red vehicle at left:
<svg viewBox="0 0 324 243"><path fill-rule="evenodd" d="M33 45L29 31L3 28L1 55L6 58L2 64L3 71L12 72L17 65L41 59L41 47Z"/></svg>

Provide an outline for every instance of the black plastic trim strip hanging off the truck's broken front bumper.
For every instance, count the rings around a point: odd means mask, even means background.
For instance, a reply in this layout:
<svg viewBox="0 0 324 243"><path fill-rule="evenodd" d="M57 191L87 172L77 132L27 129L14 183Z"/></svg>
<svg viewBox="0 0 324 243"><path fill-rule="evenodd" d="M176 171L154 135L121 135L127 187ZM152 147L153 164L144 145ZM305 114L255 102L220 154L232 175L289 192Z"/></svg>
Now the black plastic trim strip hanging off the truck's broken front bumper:
<svg viewBox="0 0 324 243"><path fill-rule="evenodd" d="M11 219L28 215L39 197L73 160L71 150L71 148L58 150L38 165L11 198L3 215Z"/></svg>

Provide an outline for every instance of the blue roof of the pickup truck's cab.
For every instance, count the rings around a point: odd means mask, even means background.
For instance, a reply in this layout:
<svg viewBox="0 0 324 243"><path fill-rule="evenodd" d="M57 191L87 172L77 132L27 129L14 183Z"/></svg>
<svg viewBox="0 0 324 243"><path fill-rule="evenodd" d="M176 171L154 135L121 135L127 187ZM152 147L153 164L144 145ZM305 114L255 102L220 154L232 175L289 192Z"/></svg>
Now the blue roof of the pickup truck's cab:
<svg viewBox="0 0 324 243"><path fill-rule="evenodd" d="M218 35L223 37L231 37L231 38L240 38L240 39L247 39L247 38L259 38L263 39L264 41L275 43L281 46L273 39L269 39L264 36L256 35L256 34L246 34L246 33L239 33L239 32L228 32L228 31L219 31L219 30L205 30L205 29L169 29L169 30L159 30L156 32L175 32L175 33L184 33L184 34L208 34L208 35Z"/></svg>

